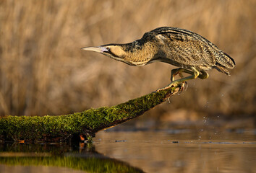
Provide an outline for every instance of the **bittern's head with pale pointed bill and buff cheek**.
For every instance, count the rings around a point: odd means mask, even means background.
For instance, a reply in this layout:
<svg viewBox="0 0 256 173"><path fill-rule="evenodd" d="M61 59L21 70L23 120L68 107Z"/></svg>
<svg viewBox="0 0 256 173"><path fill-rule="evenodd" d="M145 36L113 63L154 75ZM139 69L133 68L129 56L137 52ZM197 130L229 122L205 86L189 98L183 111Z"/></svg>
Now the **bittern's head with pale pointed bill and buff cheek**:
<svg viewBox="0 0 256 173"><path fill-rule="evenodd" d="M127 56L127 50L125 50L124 45L121 44L109 44L109 45L101 45L98 47L85 47L82 50L89 50L98 53L102 53L105 56L113 58L117 61L125 61L125 57Z"/></svg>

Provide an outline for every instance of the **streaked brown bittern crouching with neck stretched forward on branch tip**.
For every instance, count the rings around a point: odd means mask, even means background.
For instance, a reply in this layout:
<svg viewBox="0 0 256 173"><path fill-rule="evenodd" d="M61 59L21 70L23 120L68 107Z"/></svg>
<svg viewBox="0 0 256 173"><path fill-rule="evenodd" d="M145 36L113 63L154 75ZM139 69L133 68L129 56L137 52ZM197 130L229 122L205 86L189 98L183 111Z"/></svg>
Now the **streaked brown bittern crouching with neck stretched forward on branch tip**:
<svg viewBox="0 0 256 173"><path fill-rule="evenodd" d="M207 79L209 75L206 70L212 68L229 75L227 68L235 66L234 59L216 45L195 32L177 27L158 27L146 32L140 40L132 43L108 44L82 49L102 53L131 66L145 66L148 63L160 61L180 67L171 70L171 84L162 89L197 77ZM182 72L191 74L191 76L184 77ZM174 80L177 74L181 76L181 79Z"/></svg>

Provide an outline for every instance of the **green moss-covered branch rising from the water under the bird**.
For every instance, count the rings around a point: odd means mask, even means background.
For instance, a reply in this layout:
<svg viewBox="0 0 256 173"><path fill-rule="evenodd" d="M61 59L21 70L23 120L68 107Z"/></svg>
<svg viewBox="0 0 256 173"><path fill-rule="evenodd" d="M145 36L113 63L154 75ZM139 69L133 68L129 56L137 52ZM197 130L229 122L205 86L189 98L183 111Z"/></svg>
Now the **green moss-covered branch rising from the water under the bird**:
<svg viewBox="0 0 256 173"><path fill-rule="evenodd" d="M101 107L69 115L6 116L0 118L1 141L66 141L83 135L91 140L99 130L111 128L164 102L178 93L182 85L172 86L112 107Z"/></svg>

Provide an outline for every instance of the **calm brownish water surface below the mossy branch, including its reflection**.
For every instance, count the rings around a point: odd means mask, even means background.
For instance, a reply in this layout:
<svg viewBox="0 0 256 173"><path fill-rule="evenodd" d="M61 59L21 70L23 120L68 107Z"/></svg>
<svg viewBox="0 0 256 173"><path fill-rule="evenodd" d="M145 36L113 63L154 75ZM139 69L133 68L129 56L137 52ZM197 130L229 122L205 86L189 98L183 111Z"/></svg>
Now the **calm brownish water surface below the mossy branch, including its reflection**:
<svg viewBox="0 0 256 173"><path fill-rule="evenodd" d="M94 143L0 144L0 172L256 172L256 130L101 131Z"/></svg>

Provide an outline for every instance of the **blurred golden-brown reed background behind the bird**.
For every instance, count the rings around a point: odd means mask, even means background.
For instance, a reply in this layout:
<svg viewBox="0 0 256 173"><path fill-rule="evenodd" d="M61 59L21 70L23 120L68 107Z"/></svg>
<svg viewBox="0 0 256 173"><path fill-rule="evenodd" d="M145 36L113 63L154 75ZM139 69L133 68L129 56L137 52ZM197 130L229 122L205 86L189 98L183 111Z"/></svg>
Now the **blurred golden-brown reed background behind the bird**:
<svg viewBox="0 0 256 173"><path fill-rule="evenodd" d="M213 70L209 79L189 81L186 92L150 117L255 117L255 9L254 0L2 0L0 115L63 115L166 86L174 66L127 66L80 48L129 43L173 26L206 37L234 58L236 68L230 77Z"/></svg>

